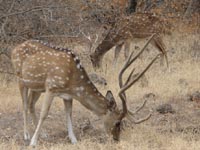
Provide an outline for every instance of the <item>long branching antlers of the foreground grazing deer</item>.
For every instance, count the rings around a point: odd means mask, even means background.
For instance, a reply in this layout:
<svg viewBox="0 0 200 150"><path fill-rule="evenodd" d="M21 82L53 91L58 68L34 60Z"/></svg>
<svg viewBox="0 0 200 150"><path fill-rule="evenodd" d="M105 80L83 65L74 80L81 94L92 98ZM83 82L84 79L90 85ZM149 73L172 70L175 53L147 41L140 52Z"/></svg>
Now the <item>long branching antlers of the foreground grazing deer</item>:
<svg viewBox="0 0 200 150"><path fill-rule="evenodd" d="M150 43L150 41L154 38L155 34L153 34L151 36L151 38L147 41L147 43L145 44L145 46L142 48L142 50L135 56L132 58L133 56L133 52L131 53L131 55L129 56L129 58L127 59L124 67L121 69L120 73L119 73L119 86L120 86L120 91L119 91L119 97L122 101L122 113L120 115L120 120L122 120L125 116L132 122L134 123L141 123L145 120L148 120L151 117L151 114L148 114L145 118L140 119L140 120L135 120L133 118L134 114L137 113L138 111L140 111L146 104L146 100L143 102L143 104L134 112L131 112L128 110L127 105L126 105L126 94L125 91L128 90L134 83L136 83L145 73L146 71L153 65L153 63L156 61L157 58L159 58L161 55L163 54L158 54L148 65L147 67L140 73L140 74L134 74L133 72L135 71L135 68L133 68L133 70L131 71L131 73L129 74L125 84L123 84L123 74L126 71L126 69L128 67L130 67L130 65L142 54L142 52L145 50L145 48L148 46L148 44Z"/></svg>

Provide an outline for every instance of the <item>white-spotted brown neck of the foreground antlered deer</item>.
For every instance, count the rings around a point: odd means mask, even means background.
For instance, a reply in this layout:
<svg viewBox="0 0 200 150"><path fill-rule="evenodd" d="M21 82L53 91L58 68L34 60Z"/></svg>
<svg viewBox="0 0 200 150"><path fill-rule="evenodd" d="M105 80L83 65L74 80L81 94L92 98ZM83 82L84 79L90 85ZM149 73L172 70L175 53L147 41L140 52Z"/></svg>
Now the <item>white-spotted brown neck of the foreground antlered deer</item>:
<svg viewBox="0 0 200 150"><path fill-rule="evenodd" d="M72 80L76 81L76 84L71 86L72 91L70 93L83 106L98 116L105 115L108 111L108 101L90 81L84 68L79 71L73 76Z"/></svg>

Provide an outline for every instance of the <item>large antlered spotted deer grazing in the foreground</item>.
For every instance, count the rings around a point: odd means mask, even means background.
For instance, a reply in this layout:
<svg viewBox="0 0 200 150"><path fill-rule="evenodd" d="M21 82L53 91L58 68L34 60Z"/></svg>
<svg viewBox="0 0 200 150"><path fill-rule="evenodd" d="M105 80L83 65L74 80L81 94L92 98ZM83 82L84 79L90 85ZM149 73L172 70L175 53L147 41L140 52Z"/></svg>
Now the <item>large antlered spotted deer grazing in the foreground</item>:
<svg viewBox="0 0 200 150"><path fill-rule="evenodd" d="M56 96L63 99L68 122L68 135L72 143L77 142L71 121L72 99L78 100L83 106L102 118L106 130L112 134L114 140L119 140L120 124L125 116L134 123L147 120L150 114L140 120L133 118L134 113L127 108L125 91L140 79L160 54L137 77L132 78L132 71L125 83L122 80L124 71L139 57L144 49L145 47L135 57L132 53L119 74L119 97L123 106L120 111L112 93L108 91L106 97L104 97L97 90L90 81L79 58L71 50L55 48L36 40L26 41L15 47L12 51L12 62L19 79L19 90L23 101L24 139L30 139L27 129L28 110L36 126L30 142L30 145L34 146L37 143L41 126L48 115L51 103ZM39 121L37 121L35 103L42 92L45 93L45 98ZM145 102L135 112L141 110L144 104Z"/></svg>

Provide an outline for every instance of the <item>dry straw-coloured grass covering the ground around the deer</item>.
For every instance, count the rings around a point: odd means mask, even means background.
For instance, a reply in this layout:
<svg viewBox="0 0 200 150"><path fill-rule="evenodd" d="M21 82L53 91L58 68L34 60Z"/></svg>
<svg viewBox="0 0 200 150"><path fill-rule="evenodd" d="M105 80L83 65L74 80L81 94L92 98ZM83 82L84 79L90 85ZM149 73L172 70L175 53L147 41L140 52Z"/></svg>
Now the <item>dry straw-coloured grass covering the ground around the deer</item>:
<svg viewBox="0 0 200 150"><path fill-rule="evenodd" d="M138 82L128 91L128 105L132 109L142 103L145 94L154 93L156 99L150 100L144 111L138 114L144 116L151 108L153 116L140 125L128 123L119 143L114 143L110 137L106 136L101 121L98 121L93 113L75 102L73 118L78 144L71 145L69 139L66 138L62 101L56 99L43 126L48 136L40 138L37 149L200 149L200 111L196 103L185 98L188 93L200 90L200 58L194 59L190 55L193 41L196 38L197 35L186 37L173 35L165 38L169 49L170 71L164 66L161 67L158 61L146 74L149 81L148 86L141 87L141 83ZM141 42L139 45L141 46L143 43ZM150 46L150 48L152 47ZM137 68L143 67L152 58L153 52L149 53L150 56L146 58L146 53L139 60ZM111 65L111 60L112 52L109 52L104 61L107 67L104 67L103 71L99 71L107 79L108 86L106 88L98 86L98 88L104 94L107 89L111 89L117 96L116 93L119 90L117 73L123 59L121 58L115 67ZM90 67L86 66L88 72L92 71ZM0 96L0 149L32 149L25 146L23 141L22 106L17 84L12 82L9 86L1 85ZM40 99L42 98L43 96ZM120 105L118 98L117 101ZM159 104L166 102L172 104L176 111L175 114L161 115L154 111ZM39 112L40 105L41 100L37 104L37 112ZM81 126L88 118L93 127L82 131ZM33 127L30 128L33 131Z"/></svg>

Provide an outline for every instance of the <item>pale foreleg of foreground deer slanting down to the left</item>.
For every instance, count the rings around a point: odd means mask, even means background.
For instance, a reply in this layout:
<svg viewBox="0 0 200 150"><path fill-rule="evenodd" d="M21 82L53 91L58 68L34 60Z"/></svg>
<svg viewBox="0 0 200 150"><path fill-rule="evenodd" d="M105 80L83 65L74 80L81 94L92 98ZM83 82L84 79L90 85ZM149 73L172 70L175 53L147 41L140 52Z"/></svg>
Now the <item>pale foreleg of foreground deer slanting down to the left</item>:
<svg viewBox="0 0 200 150"><path fill-rule="evenodd" d="M48 115L49 108L51 106L52 100L53 100L53 94L49 91L46 91L45 100L43 101L42 110L41 110L41 113L40 113L40 119L38 121L35 133L34 133L32 139L31 139L31 143L30 143L31 146L35 146L37 144L37 140L38 140L38 136L39 136L39 133L40 133L41 126L42 126L44 120L46 119L46 117Z"/></svg>

